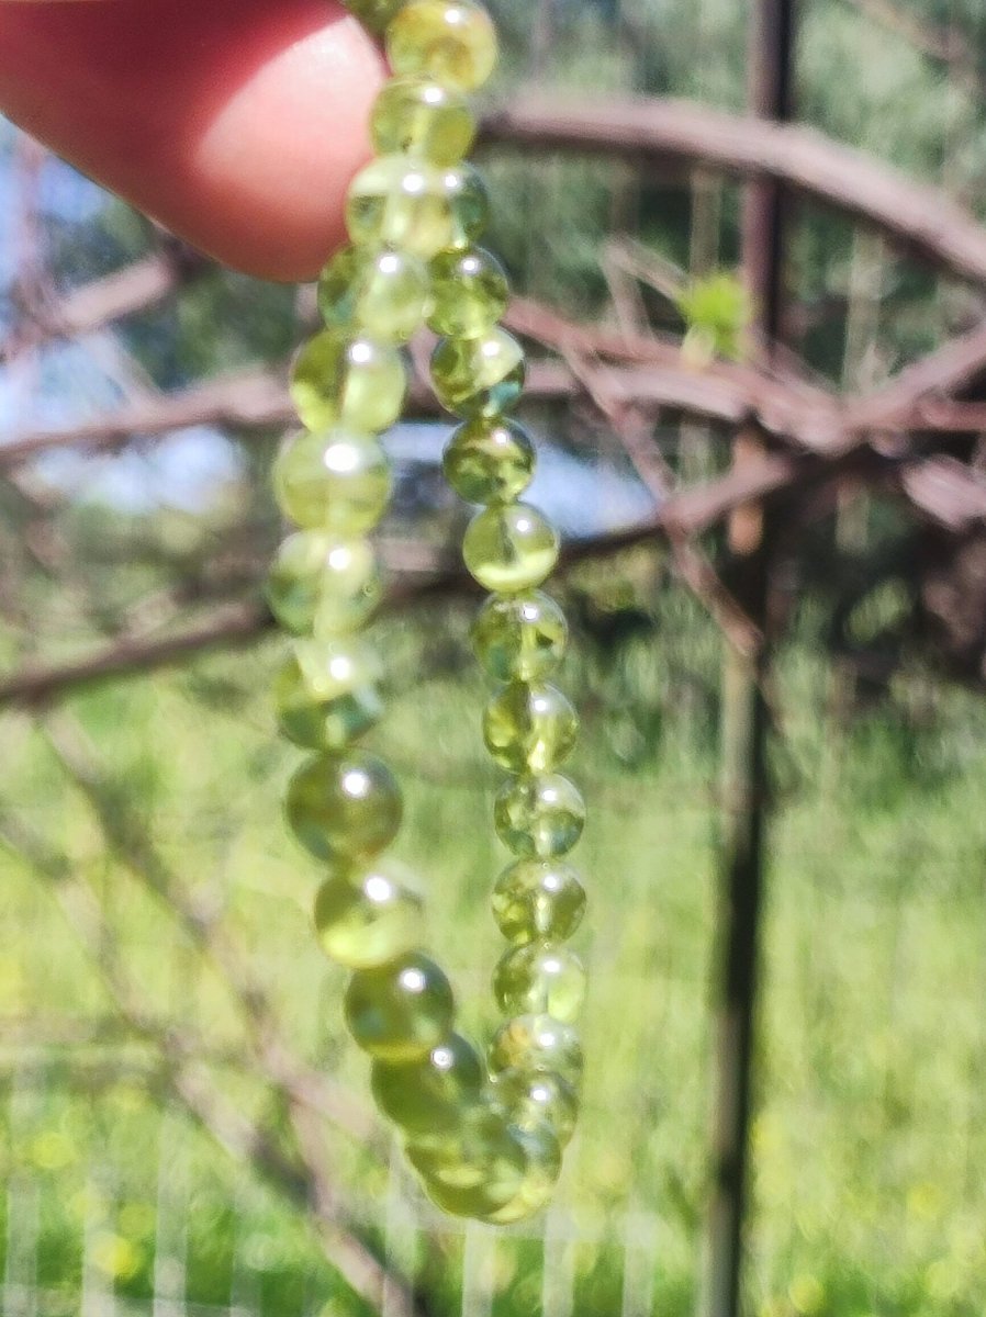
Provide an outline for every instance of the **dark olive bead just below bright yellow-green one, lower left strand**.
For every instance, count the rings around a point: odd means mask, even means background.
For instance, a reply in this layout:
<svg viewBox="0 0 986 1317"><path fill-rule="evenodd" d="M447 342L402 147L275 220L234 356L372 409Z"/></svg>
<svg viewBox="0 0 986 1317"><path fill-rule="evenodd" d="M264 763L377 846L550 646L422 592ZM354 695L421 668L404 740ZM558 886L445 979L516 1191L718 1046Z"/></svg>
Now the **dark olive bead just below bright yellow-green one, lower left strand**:
<svg viewBox="0 0 986 1317"><path fill-rule="evenodd" d="M385 1062L427 1056L452 1029L444 973L419 951L380 969L357 969L345 992L345 1022L357 1044Z"/></svg>

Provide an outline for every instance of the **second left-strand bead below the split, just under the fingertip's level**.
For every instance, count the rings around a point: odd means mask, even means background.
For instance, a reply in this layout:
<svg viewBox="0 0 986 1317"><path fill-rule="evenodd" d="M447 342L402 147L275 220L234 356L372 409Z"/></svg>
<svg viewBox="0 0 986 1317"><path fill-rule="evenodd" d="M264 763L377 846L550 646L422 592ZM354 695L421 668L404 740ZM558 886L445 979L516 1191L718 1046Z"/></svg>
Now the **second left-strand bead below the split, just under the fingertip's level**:
<svg viewBox="0 0 986 1317"><path fill-rule="evenodd" d="M386 429L401 415L406 389L397 348L331 329L308 338L291 369L291 402L308 429Z"/></svg>

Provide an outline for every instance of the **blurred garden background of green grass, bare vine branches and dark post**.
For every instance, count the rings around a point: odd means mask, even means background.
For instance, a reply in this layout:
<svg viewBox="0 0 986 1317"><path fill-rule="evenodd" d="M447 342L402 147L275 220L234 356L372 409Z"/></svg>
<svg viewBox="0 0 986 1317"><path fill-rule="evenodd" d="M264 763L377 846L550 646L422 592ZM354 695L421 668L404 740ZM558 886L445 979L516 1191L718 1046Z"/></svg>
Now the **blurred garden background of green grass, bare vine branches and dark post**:
<svg viewBox="0 0 986 1317"><path fill-rule="evenodd" d="M986 11L492 8L591 807L558 1201L496 1233L420 1198L281 822L260 585L312 290L4 125L3 1312L979 1317ZM485 1036L506 855L427 352L374 744Z"/></svg>

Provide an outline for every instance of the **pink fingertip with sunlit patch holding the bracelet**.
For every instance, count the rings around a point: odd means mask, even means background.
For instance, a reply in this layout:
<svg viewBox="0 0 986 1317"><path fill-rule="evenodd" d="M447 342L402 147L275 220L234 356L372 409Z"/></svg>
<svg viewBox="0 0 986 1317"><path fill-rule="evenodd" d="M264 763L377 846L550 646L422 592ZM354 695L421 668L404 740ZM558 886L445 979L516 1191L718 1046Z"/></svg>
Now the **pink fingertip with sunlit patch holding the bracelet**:
<svg viewBox="0 0 986 1317"><path fill-rule="evenodd" d="M227 265L344 241L384 59L337 0L0 0L0 109Z"/></svg>

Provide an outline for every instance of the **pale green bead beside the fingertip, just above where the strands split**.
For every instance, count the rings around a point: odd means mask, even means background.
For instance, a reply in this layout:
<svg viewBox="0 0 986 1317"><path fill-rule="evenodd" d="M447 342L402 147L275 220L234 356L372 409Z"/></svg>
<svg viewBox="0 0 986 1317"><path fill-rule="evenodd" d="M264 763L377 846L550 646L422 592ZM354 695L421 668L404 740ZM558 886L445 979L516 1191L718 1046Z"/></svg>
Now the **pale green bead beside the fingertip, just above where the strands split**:
<svg viewBox="0 0 986 1317"><path fill-rule="evenodd" d="M372 161L349 184L345 223L352 241L426 259L450 246L456 228L446 173L406 155Z"/></svg>

